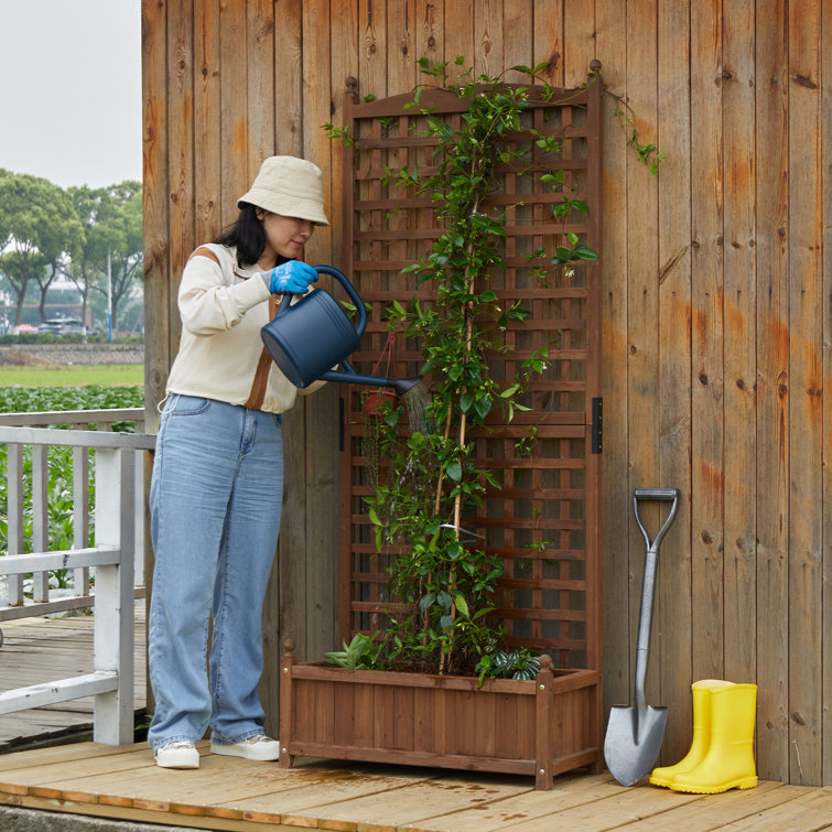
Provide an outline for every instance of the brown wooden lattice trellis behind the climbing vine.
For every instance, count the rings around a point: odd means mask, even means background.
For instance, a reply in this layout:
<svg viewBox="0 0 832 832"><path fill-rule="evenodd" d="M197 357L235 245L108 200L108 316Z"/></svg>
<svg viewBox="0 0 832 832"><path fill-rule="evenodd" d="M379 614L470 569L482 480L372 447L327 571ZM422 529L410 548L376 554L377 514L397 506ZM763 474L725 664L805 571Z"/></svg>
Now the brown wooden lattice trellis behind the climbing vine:
<svg viewBox="0 0 832 832"><path fill-rule="evenodd" d="M435 169L434 141L425 138L423 116L404 107L412 97L361 105L356 97L348 90L345 104L354 143L345 147L344 156L342 268L369 307L369 324L352 363L359 372L370 372L388 337L383 310L393 300L431 301L430 288L418 287L401 269L424 257L441 229L430 198L396 181L404 166ZM490 275L490 285L506 306L521 301L531 314L509 327L510 349L495 350L490 368L496 379L510 379L519 363L540 348L548 350L551 366L533 377L523 402L528 412L511 424L495 413L487 430L473 434L477 464L495 472L501 487L489 490L465 526L505 561L497 615L507 644L547 651L558 667L597 669L599 449L593 446L598 444L597 435L593 443L593 412L599 410L601 269L586 262L564 270L550 261L569 233L601 251L601 80L553 97L531 87L530 100L526 129L510 137L529 148L528 170L518 175L506 166L488 204L505 212L507 228L506 269ZM460 122L455 95L426 90L421 105L454 126ZM531 127L560 137L557 158L534 144ZM541 181L552 171L563 172L555 190ZM555 219L552 208L565 196L585 202L588 213L573 210L565 220ZM545 273L542 280L539 269ZM393 375L419 372L418 346L397 338ZM395 551L376 551L364 505L372 477L361 402L361 388L346 388L341 623L347 638L383 626L386 570L395 557ZM529 426L534 440L518 449ZM380 465L383 473L383 461Z"/></svg>

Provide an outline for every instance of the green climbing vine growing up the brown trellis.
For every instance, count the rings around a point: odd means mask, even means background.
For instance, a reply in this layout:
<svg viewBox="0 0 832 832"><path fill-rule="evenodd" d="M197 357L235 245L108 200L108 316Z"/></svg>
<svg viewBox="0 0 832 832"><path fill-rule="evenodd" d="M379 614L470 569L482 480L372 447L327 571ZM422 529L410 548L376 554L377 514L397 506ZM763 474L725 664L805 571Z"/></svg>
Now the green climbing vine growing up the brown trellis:
<svg viewBox="0 0 832 832"><path fill-rule="evenodd" d="M529 311L520 302L503 303L493 288L491 277L506 268L506 210L489 196L510 170L518 177L536 175L559 193L561 198L552 202L555 220L566 221L587 208L569 193L557 166L542 175L539 171L539 160L554 165L561 158L561 139L523 122L529 86L465 68L452 80L446 63L432 66L422 58L419 65L429 80L417 88L408 107L423 117L436 161L425 170L413 165L389 171L389 177L408 193L430 197L443 230L430 252L404 270L420 285L430 285L432 301L393 302L387 320L391 331L404 332L421 345L422 371L431 378L431 389L419 407L410 408L407 430L402 420L412 402L383 406L390 428L381 434L386 477L366 498L378 549L400 547L390 574L390 593L398 602L395 609L391 605L390 626L375 637L354 639L331 660L533 677L536 657L528 650L501 652L499 624L489 618L503 562L463 529L466 514L482 505L486 489L499 488L494 473L474 458L472 432L484 429L495 410L507 422L528 410L527 386L549 366L548 350L541 348L517 363L511 378L496 379L490 372L487 356L510 349L505 334ZM462 67L463 60L456 65ZM531 82L544 66L514 68ZM429 88L465 104L456 126L423 104ZM552 94L543 88L543 96ZM345 130L325 127L333 138L353 141ZM520 132L529 140L517 141ZM551 266L572 269L579 261L597 259L577 235L563 238ZM547 269L529 268L545 280ZM528 452L532 442L533 429L518 442L518 454Z"/></svg>

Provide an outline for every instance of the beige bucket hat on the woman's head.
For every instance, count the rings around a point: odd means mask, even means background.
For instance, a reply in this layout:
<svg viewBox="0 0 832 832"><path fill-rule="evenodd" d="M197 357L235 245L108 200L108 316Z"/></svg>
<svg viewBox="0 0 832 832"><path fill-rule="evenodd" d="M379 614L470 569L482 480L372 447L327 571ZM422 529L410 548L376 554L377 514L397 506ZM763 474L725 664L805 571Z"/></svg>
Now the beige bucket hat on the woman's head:
<svg viewBox="0 0 832 832"><path fill-rule="evenodd" d="M272 214L329 225L324 214L324 185L321 169L298 156L269 156L251 188L237 201L257 205Z"/></svg>

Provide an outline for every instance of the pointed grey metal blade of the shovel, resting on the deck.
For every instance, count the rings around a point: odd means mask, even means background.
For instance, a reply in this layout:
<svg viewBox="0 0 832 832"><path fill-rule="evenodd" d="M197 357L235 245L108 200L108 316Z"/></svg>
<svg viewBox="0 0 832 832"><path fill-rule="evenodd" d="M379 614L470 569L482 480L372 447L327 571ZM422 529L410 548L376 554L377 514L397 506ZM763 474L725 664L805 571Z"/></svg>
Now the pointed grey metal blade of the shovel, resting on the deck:
<svg viewBox="0 0 832 832"><path fill-rule="evenodd" d="M604 759L622 786L633 786L656 765L668 721L667 707L613 705L604 738Z"/></svg>

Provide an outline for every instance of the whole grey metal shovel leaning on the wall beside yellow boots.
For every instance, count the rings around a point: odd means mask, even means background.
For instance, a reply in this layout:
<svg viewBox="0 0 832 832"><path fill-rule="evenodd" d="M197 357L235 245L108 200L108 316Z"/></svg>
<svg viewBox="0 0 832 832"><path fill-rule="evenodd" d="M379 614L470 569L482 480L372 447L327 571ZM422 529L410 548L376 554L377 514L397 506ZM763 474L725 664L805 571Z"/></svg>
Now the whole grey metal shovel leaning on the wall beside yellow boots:
<svg viewBox="0 0 832 832"><path fill-rule="evenodd" d="M636 522L647 545L645 577L641 584L641 612L638 620L635 706L613 705L604 739L604 759L607 768L622 786L633 786L652 770L661 749L664 725L668 721L667 707L652 707L645 702L645 679L647 678L647 655L650 648L650 623L659 545L676 518L680 496L678 488L636 488L633 496ZM673 501L664 525L652 541L638 515L639 500Z"/></svg>

